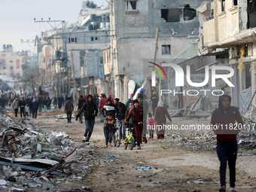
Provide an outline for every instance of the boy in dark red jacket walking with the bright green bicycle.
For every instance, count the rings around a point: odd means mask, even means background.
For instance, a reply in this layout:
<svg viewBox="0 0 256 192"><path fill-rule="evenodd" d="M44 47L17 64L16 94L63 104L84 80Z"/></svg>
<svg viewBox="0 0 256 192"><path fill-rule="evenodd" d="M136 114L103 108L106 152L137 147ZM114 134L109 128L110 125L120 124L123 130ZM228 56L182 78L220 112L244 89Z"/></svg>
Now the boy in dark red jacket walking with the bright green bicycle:
<svg viewBox="0 0 256 192"><path fill-rule="evenodd" d="M126 121L130 120L130 117L133 117L133 125L137 139L138 149L141 148L142 141L142 130L143 130L143 108L142 105L139 105L139 101L135 99L133 101L134 107L131 109L130 114L126 117Z"/></svg>

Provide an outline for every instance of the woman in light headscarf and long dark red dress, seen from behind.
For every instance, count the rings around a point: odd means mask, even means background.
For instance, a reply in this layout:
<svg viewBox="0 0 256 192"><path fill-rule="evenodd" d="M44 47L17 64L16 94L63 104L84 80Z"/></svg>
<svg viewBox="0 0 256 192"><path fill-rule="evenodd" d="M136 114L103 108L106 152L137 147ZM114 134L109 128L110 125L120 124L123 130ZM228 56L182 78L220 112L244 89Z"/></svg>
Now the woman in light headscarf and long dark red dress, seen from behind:
<svg viewBox="0 0 256 192"><path fill-rule="evenodd" d="M162 129L156 129L157 139L164 139L164 126L166 124L166 117L172 122L172 118L169 116L167 109L163 106L163 102L159 101L154 111L154 120L157 121L156 127L161 126Z"/></svg>

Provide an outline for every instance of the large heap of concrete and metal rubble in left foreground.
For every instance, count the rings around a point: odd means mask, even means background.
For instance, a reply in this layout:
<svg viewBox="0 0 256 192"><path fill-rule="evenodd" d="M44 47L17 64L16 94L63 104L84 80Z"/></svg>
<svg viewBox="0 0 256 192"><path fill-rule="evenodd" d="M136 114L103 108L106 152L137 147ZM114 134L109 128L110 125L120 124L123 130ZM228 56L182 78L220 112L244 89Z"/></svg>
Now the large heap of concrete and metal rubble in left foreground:
<svg viewBox="0 0 256 192"><path fill-rule="evenodd" d="M0 190L5 191L59 190L63 184L81 184L93 166L113 161L100 160L96 145L76 142L66 133L44 133L29 120L2 112L0 147Z"/></svg>

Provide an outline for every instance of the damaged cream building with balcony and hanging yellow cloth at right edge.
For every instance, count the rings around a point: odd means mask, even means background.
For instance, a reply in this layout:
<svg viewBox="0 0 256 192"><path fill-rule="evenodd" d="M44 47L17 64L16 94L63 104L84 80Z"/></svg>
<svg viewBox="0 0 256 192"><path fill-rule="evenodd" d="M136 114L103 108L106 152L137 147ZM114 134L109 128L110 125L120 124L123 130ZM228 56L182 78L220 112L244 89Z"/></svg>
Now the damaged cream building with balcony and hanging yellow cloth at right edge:
<svg viewBox="0 0 256 192"><path fill-rule="evenodd" d="M256 4L249 0L215 0L197 9L202 19L199 51L201 56L218 55L223 65L234 69L230 81L232 105L241 111L256 104ZM240 66L239 66L240 63ZM246 101L245 101L246 100Z"/></svg>

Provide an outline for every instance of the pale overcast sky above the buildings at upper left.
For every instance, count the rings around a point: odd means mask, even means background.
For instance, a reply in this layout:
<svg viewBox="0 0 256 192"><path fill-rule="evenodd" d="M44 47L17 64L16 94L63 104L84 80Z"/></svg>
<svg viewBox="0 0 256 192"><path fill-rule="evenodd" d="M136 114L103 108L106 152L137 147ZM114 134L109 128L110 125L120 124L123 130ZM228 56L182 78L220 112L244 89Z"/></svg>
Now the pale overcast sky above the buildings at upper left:
<svg viewBox="0 0 256 192"><path fill-rule="evenodd" d="M83 0L2 0L0 1L0 50L3 44L12 44L14 51L36 51L32 41L35 35L51 29L48 23L35 23L36 20L66 20L67 26L78 20ZM93 0L100 5L108 5L107 0Z"/></svg>

